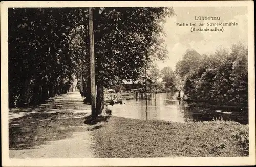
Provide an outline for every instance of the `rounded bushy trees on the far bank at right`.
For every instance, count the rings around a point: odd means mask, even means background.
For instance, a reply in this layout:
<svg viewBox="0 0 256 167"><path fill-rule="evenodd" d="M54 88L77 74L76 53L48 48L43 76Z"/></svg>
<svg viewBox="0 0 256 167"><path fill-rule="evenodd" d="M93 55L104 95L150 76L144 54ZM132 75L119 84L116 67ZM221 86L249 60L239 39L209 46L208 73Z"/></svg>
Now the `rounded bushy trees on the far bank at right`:
<svg viewBox="0 0 256 167"><path fill-rule="evenodd" d="M248 50L241 43L211 55L188 50L176 73L192 99L219 105L248 105Z"/></svg>

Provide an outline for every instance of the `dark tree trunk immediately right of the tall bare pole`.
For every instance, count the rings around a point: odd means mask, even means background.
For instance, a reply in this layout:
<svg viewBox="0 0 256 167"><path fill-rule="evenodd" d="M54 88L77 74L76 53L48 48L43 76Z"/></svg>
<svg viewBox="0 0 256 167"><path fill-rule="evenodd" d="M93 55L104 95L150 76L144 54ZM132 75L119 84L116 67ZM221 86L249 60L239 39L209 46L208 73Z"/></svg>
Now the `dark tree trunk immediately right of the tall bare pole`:
<svg viewBox="0 0 256 167"><path fill-rule="evenodd" d="M102 81L97 83L97 95L96 95L96 115L101 114L104 109L104 89Z"/></svg>

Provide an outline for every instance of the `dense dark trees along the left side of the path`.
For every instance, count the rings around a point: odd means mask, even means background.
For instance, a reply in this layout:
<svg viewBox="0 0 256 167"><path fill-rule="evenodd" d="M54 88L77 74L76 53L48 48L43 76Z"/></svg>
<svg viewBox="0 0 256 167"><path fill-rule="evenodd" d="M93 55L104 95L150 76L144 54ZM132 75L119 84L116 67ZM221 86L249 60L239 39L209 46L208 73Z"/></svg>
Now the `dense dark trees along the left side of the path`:
<svg viewBox="0 0 256 167"><path fill-rule="evenodd" d="M76 62L70 55L78 8L9 8L9 106L36 104L67 92ZM81 14L82 16L82 14ZM49 92L49 93L48 93Z"/></svg>

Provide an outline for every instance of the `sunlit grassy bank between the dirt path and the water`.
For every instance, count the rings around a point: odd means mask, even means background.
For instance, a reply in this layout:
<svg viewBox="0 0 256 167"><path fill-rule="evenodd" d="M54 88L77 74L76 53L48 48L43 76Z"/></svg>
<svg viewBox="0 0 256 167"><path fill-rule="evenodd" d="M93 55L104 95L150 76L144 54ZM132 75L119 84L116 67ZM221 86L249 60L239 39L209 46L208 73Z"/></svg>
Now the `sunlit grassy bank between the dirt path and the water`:
<svg viewBox="0 0 256 167"><path fill-rule="evenodd" d="M100 158L248 156L248 125L110 117L91 127Z"/></svg>

